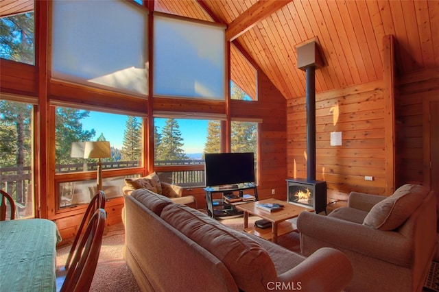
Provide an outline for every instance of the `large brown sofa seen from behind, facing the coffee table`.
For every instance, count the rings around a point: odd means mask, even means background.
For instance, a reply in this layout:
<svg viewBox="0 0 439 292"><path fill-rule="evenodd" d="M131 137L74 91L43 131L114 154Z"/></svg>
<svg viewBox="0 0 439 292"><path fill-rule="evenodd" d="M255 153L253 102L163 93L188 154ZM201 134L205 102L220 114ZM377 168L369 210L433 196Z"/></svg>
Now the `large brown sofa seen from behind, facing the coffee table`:
<svg viewBox="0 0 439 292"><path fill-rule="evenodd" d="M126 262L142 291L340 291L346 256L308 258L146 189L125 197Z"/></svg>

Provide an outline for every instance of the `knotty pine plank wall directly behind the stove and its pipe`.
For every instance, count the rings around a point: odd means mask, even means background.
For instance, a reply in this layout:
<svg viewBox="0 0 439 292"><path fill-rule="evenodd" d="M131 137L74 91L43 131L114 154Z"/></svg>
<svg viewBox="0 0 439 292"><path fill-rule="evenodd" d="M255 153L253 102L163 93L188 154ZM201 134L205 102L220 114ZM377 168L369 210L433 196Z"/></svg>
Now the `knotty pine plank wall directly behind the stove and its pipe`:
<svg viewBox="0 0 439 292"><path fill-rule="evenodd" d="M328 197L348 193L385 194L385 129L382 82L316 94L316 179L327 182ZM287 101L287 175L307 178L305 97ZM331 132L342 145L331 146ZM372 176L372 181L364 176Z"/></svg>

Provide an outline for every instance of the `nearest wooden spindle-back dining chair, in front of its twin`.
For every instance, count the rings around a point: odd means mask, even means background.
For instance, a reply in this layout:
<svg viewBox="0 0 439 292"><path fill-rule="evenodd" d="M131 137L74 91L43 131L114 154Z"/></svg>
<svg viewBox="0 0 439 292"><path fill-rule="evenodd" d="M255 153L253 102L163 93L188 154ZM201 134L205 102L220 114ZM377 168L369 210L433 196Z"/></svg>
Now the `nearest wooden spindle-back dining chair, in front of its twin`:
<svg viewBox="0 0 439 292"><path fill-rule="evenodd" d="M105 221L105 210L97 209L88 221L67 273L65 269L56 273L57 291L76 292L90 289L102 246Z"/></svg>

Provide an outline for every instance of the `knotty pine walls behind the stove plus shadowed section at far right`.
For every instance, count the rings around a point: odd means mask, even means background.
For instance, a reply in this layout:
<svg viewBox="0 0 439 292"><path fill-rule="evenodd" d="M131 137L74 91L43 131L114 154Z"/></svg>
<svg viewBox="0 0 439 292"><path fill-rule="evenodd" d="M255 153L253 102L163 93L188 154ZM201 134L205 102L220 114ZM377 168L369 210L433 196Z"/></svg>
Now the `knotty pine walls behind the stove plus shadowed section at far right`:
<svg viewBox="0 0 439 292"><path fill-rule="evenodd" d="M396 76L395 187L424 184L423 100L439 95L439 69ZM316 95L316 177L328 197L347 199L351 191L385 193L385 101L381 82ZM306 178L305 97L287 101L287 175ZM438 113L439 114L439 113ZM331 132L342 146L330 146ZM436 162L438 163L438 162ZM365 175L373 181L364 180Z"/></svg>

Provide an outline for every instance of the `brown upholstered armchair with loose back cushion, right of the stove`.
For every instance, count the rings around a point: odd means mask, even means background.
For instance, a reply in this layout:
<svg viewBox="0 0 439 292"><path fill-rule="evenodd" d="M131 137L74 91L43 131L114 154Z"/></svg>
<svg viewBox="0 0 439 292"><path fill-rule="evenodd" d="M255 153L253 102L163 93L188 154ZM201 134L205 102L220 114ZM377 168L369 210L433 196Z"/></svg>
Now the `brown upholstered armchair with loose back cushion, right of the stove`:
<svg viewBox="0 0 439 292"><path fill-rule="evenodd" d="M421 291L436 253L436 196L405 184L390 197L352 192L328 216L302 212L300 250L343 252L353 265L346 291Z"/></svg>

